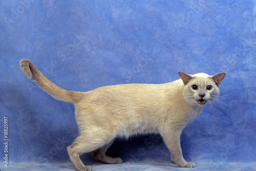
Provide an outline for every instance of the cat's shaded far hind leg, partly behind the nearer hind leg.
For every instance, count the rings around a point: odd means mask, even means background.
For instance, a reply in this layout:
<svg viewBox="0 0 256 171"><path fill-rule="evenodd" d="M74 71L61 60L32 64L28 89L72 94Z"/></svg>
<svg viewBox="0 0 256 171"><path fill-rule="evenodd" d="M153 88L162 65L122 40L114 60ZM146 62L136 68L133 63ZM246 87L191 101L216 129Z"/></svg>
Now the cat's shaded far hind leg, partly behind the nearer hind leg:
<svg viewBox="0 0 256 171"><path fill-rule="evenodd" d="M93 151L91 153L91 155L96 159L99 160L103 163L108 163L108 164L121 164L123 163L123 160L119 157L117 158L112 158L109 156L105 155L106 150L108 150L109 146L113 143L115 139L113 139L112 141L110 141L109 143L105 144L104 146L102 146L101 148Z"/></svg>

